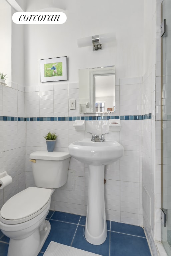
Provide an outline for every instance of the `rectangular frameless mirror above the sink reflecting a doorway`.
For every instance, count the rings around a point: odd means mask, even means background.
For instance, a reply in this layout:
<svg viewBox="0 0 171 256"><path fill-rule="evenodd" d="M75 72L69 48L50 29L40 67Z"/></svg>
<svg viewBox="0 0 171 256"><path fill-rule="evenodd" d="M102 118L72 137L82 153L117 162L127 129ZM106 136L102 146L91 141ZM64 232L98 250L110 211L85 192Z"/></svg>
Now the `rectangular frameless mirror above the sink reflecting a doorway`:
<svg viewBox="0 0 171 256"><path fill-rule="evenodd" d="M115 66L79 69L80 113L115 112Z"/></svg>

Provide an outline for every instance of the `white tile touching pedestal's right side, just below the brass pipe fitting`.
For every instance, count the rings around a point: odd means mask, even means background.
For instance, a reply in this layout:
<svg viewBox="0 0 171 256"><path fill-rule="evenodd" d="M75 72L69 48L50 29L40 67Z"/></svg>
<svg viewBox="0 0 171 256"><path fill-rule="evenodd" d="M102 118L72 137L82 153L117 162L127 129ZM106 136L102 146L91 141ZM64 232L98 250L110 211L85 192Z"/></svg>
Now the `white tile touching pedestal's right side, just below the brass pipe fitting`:
<svg viewBox="0 0 171 256"><path fill-rule="evenodd" d="M120 181L106 180L104 194L105 208L120 211Z"/></svg>

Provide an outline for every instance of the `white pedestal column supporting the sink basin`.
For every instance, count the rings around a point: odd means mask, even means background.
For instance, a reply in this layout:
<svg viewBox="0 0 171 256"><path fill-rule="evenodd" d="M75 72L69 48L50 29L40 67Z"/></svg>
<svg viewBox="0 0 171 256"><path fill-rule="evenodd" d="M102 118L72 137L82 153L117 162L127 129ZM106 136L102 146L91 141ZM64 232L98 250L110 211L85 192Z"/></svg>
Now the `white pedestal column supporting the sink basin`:
<svg viewBox="0 0 171 256"><path fill-rule="evenodd" d="M104 201L104 165L89 165L88 168L89 191L85 238L89 243L99 245L107 237Z"/></svg>

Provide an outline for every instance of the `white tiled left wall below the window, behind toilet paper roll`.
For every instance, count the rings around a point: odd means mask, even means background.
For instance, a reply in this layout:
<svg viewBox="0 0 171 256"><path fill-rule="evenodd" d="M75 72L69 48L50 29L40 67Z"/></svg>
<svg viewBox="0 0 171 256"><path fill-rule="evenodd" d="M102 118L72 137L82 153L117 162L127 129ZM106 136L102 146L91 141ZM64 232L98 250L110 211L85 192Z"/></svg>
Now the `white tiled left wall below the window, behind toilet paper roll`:
<svg viewBox="0 0 171 256"><path fill-rule="evenodd" d="M0 116L25 117L24 97L24 87L0 85ZM12 177L12 183L1 190L0 209L25 189L25 134L25 122L0 121L0 172L7 171Z"/></svg>

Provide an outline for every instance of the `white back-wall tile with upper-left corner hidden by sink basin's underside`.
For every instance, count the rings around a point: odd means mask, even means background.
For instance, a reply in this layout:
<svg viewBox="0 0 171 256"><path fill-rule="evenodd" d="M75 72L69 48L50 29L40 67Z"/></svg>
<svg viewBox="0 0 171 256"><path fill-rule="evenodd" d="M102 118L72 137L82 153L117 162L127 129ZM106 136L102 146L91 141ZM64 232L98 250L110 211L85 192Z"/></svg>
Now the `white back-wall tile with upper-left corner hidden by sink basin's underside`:
<svg viewBox="0 0 171 256"><path fill-rule="evenodd" d="M120 180L139 182L139 152L124 151L120 158Z"/></svg>

